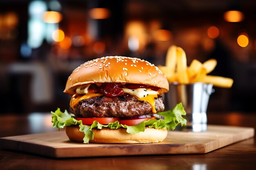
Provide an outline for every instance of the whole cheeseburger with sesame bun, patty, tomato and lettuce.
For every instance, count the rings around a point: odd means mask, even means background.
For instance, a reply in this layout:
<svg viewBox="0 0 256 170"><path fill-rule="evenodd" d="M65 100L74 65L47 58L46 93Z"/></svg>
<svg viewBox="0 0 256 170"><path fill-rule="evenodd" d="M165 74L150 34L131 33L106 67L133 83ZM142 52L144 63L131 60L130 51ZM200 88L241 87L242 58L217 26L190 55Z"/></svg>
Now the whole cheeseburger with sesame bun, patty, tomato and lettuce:
<svg viewBox="0 0 256 170"><path fill-rule="evenodd" d="M163 141L167 130L184 126L182 104L164 111L162 94L169 84L154 64L132 57L108 56L74 69L64 93L70 112L52 112L53 127L71 141L136 144Z"/></svg>

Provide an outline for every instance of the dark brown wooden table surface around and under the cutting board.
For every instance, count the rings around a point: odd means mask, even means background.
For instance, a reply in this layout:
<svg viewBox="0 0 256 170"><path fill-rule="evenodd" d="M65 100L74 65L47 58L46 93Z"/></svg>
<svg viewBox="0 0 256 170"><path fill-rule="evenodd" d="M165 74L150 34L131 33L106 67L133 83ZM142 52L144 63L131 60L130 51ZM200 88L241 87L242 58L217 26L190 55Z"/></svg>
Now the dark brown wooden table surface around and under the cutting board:
<svg viewBox="0 0 256 170"><path fill-rule="evenodd" d="M208 123L256 128L256 113L208 113ZM52 132L47 113L0 115L0 137ZM254 170L256 137L195 155L153 155L52 159L23 152L0 150L0 169L129 169L129 170Z"/></svg>

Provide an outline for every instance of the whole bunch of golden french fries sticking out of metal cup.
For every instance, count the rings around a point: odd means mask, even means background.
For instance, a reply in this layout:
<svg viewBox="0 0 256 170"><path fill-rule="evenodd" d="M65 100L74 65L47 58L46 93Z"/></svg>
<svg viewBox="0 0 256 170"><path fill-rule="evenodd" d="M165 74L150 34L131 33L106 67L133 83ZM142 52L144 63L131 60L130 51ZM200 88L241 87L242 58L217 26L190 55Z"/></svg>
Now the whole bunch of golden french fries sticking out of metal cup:
<svg viewBox="0 0 256 170"><path fill-rule="evenodd" d="M180 84L191 84L203 82L213 84L213 86L230 88L234 82L227 77L207 75L214 70L217 65L215 59L207 60L204 63L193 60L190 66L186 64L186 53L180 47L175 45L169 47L166 56L166 66L158 66L166 75L168 82L178 82Z"/></svg>

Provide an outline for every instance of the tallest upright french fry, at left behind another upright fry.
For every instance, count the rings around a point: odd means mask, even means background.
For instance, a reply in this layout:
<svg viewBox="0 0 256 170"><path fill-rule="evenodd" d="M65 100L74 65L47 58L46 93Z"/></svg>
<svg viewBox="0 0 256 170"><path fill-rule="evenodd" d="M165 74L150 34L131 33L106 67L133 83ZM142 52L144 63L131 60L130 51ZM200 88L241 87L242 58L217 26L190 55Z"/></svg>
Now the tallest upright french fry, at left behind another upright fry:
<svg viewBox="0 0 256 170"><path fill-rule="evenodd" d="M175 67L176 67L176 49L177 46L172 45L169 47L168 51L167 51L167 55L166 55L166 66L170 69L169 71L171 71L171 73L175 72Z"/></svg>

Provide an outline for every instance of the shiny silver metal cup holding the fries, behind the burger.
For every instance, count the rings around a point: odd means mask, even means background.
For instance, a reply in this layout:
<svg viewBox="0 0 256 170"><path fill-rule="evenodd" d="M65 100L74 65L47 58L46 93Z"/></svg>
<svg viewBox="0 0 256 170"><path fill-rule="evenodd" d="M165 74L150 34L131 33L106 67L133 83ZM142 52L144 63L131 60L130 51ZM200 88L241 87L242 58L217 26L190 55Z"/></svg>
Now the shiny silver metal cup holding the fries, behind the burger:
<svg viewBox="0 0 256 170"><path fill-rule="evenodd" d="M182 130L193 132L207 131L207 106L213 92L213 84L169 84L166 106L170 110L182 102L186 111L186 126Z"/></svg>

